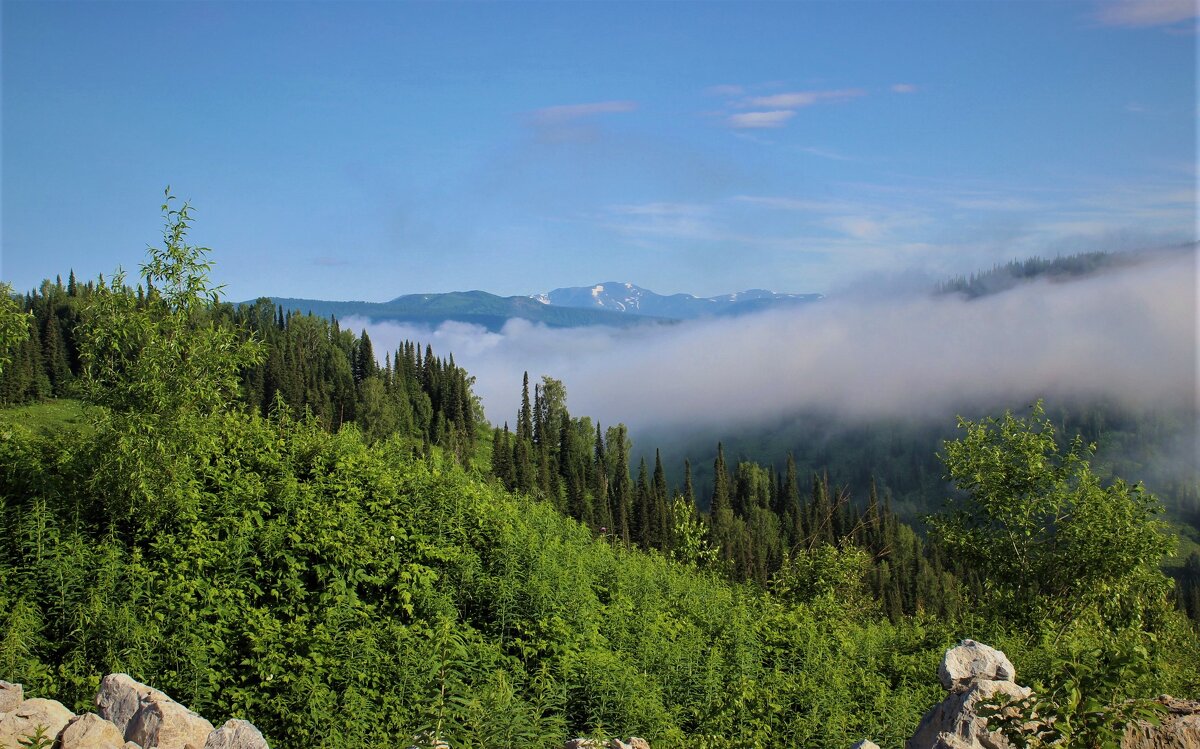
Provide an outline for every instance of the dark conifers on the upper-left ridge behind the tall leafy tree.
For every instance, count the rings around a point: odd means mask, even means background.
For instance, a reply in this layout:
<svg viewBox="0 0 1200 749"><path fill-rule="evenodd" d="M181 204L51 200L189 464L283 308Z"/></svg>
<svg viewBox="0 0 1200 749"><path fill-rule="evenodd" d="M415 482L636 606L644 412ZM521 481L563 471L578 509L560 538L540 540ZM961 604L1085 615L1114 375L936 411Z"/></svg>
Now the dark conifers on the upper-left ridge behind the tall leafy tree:
<svg viewBox="0 0 1200 749"><path fill-rule="evenodd" d="M150 278L128 293L130 311L145 312L161 301ZM0 403L17 405L82 395L84 389L83 311L114 284L103 278L78 283L71 272L17 298L30 314L29 336L13 348L0 372ZM342 330L336 319L287 312L266 299L252 305L216 304L197 313L205 324L253 338L259 355L238 370L242 403L266 415L277 405L310 413L326 429L355 423L367 439L395 433L422 445L449 448L461 460L472 454L482 420L470 394L470 377L454 356L406 341L378 361L371 338Z"/></svg>

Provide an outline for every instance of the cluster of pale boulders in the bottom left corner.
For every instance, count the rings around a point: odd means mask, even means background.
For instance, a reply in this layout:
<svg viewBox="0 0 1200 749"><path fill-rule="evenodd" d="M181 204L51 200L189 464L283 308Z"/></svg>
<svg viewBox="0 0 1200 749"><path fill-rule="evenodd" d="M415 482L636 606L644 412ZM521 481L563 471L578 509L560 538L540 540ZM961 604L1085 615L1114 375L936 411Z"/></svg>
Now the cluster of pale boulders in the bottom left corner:
<svg viewBox="0 0 1200 749"><path fill-rule="evenodd" d="M250 723L212 724L126 673L101 679L96 713L76 717L54 700L25 700L20 684L0 682L0 747L14 749L38 726L58 749L269 749Z"/></svg>

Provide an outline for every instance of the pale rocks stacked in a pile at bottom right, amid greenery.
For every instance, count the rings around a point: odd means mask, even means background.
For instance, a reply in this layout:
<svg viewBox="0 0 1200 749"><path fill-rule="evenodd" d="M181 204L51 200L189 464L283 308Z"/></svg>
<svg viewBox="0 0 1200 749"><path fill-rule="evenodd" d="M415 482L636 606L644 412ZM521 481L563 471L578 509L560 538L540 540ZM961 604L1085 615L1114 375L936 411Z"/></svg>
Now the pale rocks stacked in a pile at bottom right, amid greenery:
<svg viewBox="0 0 1200 749"><path fill-rule="evenodd" d="M937 677L950 694L925 713L905 749L1009 749L1007 738L988 730L977 706L997 694L1030 696L1028 688L1013 681L1012 661L995 648L964 640L946 652Z"/></svg>

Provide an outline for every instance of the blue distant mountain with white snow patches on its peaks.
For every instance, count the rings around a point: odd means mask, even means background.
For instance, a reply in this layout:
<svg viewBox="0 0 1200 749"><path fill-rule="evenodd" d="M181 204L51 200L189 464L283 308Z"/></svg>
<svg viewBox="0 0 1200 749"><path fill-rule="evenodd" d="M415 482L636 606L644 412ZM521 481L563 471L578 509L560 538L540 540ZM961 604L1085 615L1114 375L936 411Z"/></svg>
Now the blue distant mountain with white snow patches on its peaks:
<svg viewBox="0 0 1200 749"><path fill-rule="evenodd" d="M607 281L595 286L557 288L532 296L547 306L581 310L610 310L625 314L667 319L695 319L714 314L744 314L776 306L806 304L822 299L821 294L780 294L766 289L749 289L719 296L691 294L656 294L632 283Z"/></svg>

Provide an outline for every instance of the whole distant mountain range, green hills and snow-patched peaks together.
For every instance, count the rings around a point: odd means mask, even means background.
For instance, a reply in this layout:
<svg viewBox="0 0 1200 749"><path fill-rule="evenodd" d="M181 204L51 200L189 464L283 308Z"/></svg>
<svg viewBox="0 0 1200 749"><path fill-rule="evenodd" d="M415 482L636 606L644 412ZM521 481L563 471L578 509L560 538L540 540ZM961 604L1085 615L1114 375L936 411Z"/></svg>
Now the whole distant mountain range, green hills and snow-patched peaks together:
<svg viewBox="0 0 1200 749"><path fill-rule="evenodd" d="M373 322L439 325L461 322L499 330L514 318L550 328L608 325L629 328L677 323L708 316L760 312L772 307L808 304L821 294L776 294L750 289L720 296L662 295L632 283L607 282L554 289L532 296L498 296L487 292L404 294L390 301L328 301L320 299L269 298L287 311L320 317L364 317ZM252 304L252 302L242 302Z"/></svg>

